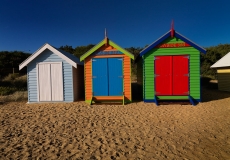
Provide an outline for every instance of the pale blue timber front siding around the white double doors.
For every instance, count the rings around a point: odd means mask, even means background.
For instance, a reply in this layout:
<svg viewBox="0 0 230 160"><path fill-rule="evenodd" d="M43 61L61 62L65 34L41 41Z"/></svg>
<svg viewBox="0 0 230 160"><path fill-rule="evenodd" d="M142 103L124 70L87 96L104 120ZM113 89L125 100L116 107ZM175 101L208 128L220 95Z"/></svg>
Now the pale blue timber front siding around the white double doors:
<svg viewBox="0 0 230 160"><path fill-rule="evenodd" d="M43 53L37 56L33 63L29 63L27 66L28 73L28 101L38 101L38 88L37 88L37 63L40 62L62 62L63 69L63 93L64 101L73 101L73 79L72 79L72 66L58 55L52 53L46 49Z"/></svg>

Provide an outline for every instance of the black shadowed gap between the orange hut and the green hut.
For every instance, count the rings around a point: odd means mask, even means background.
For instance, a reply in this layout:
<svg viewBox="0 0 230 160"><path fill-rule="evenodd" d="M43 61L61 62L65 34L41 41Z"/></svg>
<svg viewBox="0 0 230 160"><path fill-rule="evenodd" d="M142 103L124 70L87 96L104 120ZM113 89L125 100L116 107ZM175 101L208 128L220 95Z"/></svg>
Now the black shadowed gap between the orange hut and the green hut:
<svg viewBox="0 0 230 160"><path fill-rule="evenodd" d="M132 82L132 100L133 102L143 101L143 87L137 82Z"/></svg>

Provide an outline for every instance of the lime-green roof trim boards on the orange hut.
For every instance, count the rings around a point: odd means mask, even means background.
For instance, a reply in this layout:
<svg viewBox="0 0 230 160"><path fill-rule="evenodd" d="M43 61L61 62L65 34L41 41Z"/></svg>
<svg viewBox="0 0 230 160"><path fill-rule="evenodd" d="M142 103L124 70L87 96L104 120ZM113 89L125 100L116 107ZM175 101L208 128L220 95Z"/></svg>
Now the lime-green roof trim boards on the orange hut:
<svg viewBox="0 0 230 160"><path fill-rule="evenodd" d="M107 37L106 37L107 38ZM125 55L129 56L130 58L134 59L134 55L130 52L128 52L127 50L125 50L124 48L120 47L119 45L117 45L116 43L114 43L113 41L111 41L110 39L103 39L100 43L98 43L97 45L95 45L93 48L91 48L89 51L87 51L85 54L83 54L80 57L80 61L83 61L86 57L88 57L89 55L93 54L96 50L98 50L100 47L102 47L104 44L106 44L108 42L108 44L114 48L116 48L117 50L121 51L122 53L124 53Z"/></svg>

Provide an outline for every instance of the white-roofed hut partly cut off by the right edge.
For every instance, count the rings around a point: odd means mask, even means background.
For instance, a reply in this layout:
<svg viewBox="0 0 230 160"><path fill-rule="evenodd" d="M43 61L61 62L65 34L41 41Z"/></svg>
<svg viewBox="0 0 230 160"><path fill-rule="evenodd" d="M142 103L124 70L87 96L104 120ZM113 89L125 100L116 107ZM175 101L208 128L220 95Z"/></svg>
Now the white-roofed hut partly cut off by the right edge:
<svg viewBox="0 0 230 160"><path fill-rule="evenodd" d="M218 89L230 92L230 52L213 64L211 68L217 69Z"/></svg>

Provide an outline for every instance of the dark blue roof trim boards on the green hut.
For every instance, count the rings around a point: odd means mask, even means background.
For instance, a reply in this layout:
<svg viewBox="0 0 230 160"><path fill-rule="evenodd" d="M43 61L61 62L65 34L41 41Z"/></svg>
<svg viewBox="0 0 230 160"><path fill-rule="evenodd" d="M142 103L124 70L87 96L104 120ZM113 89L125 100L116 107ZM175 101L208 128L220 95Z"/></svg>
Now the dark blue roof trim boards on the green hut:
<svg viewBox="0 0 230 160"><path fill-rule="evenodd" d="M156 47L157 45L159 45L161 42L163 42L164 40L166 40L167 38L169 38L171 36L171 30L168 31L167 33L165 33L163 36L161 36L159 39L157 39L156 41L154 41L152 44L150 44L149 46L147 46L146 48L144 48L140 54L138 55L139 56L143 56L144 54L146 54L148 51L150 51L151 49L153 49L154 47ZM197 45L196 43L192 42L191 40L189 40L188 38L184 37L182 34L174 31L174 36L176 38L179 38L181 39L182 41L190 44L191 46L193 46L194 48L196 48L197 50L199 50L200 52L202 53L206 53L206 50Z"/></svg>

